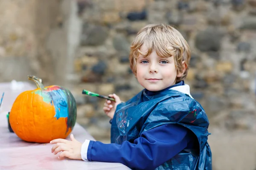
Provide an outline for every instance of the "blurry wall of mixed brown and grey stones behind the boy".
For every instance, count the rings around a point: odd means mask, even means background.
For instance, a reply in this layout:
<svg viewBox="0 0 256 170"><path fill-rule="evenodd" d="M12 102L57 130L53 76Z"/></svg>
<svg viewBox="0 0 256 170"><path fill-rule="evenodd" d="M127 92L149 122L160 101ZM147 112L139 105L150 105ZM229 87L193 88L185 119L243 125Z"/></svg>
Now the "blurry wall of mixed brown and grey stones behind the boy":
<svg viewBox="0 0 256 170"><path fill-rule="evenodd" d="M143 26L169 23L189 42L186 83L212 125L254 128L255 0L79 0L78 7L83 26L74 61L80 77L74 93L81 124L109 127L102 123L104 100L83 96L81 90L116 93L122 100L139 92L142 87L129 68L129 45Z"/></svg>

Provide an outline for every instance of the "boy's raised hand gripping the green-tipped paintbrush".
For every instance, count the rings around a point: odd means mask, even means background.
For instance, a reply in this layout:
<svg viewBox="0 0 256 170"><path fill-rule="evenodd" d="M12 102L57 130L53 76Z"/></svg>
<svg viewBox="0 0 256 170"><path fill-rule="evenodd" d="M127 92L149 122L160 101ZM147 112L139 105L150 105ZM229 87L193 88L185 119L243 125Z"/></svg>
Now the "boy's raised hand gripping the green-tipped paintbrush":
<svg viewBox="0 0 256 170"><path fill-rule="evenodd" d="M121 100L120 100L119 96L117 96L116 94L110 94L108 96L113 97L116 100L116 102L113 102L111 100L106 100L106 102L104 103L103 111L107 114L108 117L113 119L113 116L116 111L116 106L119 103L121 103Z"/></svg>

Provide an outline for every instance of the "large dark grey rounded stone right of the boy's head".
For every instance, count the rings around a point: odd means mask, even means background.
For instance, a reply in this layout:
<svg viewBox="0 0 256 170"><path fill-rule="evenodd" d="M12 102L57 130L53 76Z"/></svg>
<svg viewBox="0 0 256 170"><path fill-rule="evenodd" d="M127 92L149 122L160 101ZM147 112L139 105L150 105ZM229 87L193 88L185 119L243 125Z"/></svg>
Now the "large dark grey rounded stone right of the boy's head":
<svg viewBox="0 0 256 170"><path fill-rule="evenodd" d="M219 51L221 48L221 32L214 27L200 31L195 37L195 46L200 51Z"/></svg>

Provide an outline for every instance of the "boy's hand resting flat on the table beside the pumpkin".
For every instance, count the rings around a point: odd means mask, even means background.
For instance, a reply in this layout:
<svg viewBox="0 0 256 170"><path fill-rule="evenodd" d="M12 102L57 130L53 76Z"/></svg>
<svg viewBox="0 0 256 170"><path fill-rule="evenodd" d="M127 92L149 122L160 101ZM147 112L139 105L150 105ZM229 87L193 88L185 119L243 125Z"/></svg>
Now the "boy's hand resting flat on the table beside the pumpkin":
<svg viewBox="0 0 256 170"><path fill-rule="evenodd" d="M61 152L62 153L58 156L58 159L61 159L63 157L67 157L70 159L79 159L82 160L81 158L81 147L82 143L77 141L74 138L74 135L70 135L70 140L68 141L66 139L54 139L50 142L50 144L55 144L52 147L52 153L56 155L57 153Z"/></svg>

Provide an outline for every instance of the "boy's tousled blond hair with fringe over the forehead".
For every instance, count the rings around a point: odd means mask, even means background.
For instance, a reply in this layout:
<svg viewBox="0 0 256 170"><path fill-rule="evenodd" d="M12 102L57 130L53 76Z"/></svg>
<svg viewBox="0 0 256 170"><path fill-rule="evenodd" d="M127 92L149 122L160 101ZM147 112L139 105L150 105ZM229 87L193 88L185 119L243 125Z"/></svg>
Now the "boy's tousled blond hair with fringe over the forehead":
<svg viewBox="0 0 256 170"><path fill-rule="evenodd" d="M145 54L140 51L140 48L144 43L148 48L148 51ZM147 57L153 51L156 51L157 55L160 57L173 56L177 73L182 72L182 62L184 61L186 70L183 76L177 77L176 82L186 78L191 53L188 43L179 31L167 24L149 24L142 28L131 44L129 55L130 67L135 75L137 68L136 61L139 55L141 54L143 57Z"/></svg>

